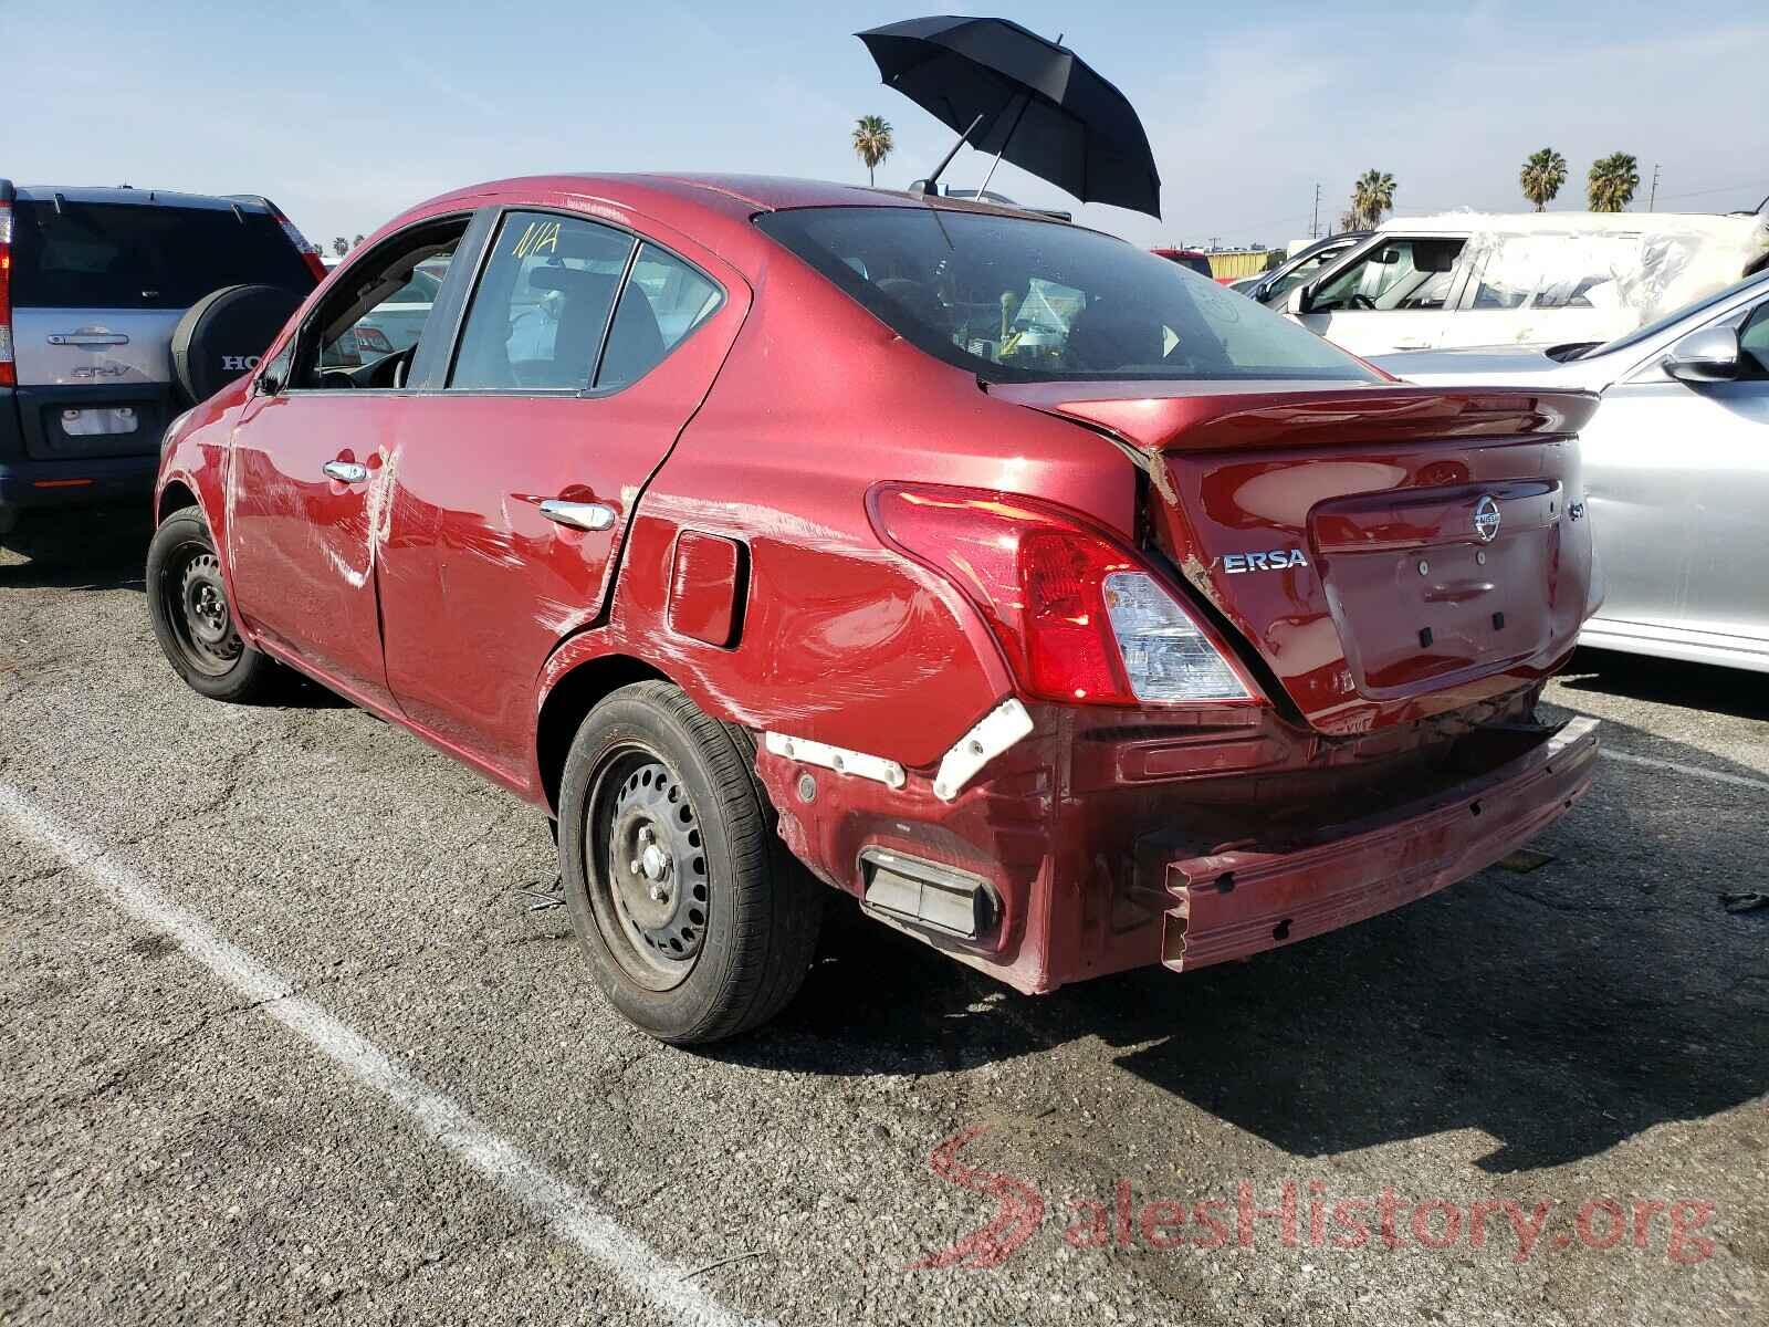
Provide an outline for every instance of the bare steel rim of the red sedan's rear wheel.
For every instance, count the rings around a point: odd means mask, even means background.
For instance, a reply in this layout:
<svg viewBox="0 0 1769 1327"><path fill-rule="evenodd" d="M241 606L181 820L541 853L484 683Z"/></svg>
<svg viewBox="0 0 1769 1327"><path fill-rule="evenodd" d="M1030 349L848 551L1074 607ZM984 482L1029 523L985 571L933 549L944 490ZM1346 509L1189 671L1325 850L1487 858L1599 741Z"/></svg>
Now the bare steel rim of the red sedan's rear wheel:
<svg viewBox="0 0 1769 1327"><path fill-rule="evenodd" d="M706 945L711 881L693 798L642 743L612 750L587 805L591 909L609 948L644 987L688 980Z"/></svg>

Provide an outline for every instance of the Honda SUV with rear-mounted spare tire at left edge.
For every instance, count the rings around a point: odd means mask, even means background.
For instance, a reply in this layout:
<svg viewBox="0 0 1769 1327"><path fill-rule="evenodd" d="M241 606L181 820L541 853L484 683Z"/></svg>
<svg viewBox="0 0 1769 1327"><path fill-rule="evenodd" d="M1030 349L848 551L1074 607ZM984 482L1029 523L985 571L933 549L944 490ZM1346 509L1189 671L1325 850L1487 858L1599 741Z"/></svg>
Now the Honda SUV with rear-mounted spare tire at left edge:
<svg viewBox="0 0 1769 1327"><path fill-rule="evenodd" d="M0 179L0 534L145 501L172 418L257 366L324 274L265 198Z"/></svg>

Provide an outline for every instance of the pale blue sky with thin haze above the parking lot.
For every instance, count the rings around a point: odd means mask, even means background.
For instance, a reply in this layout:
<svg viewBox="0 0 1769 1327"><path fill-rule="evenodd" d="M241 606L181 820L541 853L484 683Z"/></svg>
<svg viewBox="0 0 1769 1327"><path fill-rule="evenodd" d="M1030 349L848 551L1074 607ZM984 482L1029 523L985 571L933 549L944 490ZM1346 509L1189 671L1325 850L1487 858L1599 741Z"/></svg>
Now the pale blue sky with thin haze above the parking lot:
<svg viewBox="0 0 1769 1327"><path fill-rule="evenodd" d="M950 131L883 88L853 32L999 12L1084 55L1143 115L1164 219L1081 216L1139 242L1283 242L1367 166L1398 209L1521 209L1523 157L1633 152L1659 209L1769 195L1751 5L732 4L586 0L0 0L0 173L18 182L267 193L310 239L368 232L430 195L543 170L739 170L863 180L847 143L884 115L879 182L925 173ZM1689 21L1684 21L1689 19ZM948 172L975 186L987 159ZM1003 166L994 186L1072 205Z"/></svg>

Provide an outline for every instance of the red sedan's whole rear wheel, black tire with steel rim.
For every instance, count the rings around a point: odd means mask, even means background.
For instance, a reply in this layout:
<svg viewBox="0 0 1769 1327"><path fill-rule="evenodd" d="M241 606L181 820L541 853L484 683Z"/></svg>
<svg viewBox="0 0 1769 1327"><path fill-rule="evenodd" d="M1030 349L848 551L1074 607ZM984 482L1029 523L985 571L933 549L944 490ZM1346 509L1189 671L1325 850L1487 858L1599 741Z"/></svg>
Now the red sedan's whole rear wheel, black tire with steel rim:
<svg viewBox="0 0 1769 1327"><path fill-rule="evenodd" d="M596 984L665 1042L766 1023L817 948L824 886L775 835L754 738L667 681L612 692L578 727L559 793L559 874Z"/></svg>

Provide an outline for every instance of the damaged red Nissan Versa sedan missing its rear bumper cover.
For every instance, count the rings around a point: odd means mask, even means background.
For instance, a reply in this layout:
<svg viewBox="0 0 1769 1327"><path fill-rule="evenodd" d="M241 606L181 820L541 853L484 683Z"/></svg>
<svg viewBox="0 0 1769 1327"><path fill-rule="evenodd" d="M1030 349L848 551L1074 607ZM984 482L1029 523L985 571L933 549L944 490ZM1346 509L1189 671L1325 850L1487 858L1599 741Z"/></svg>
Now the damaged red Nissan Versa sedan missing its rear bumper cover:
<svg viewBox="0 0 1769 1327"><path fill-rule="evenodd" d="M417 341L336 347L440 274ZM1399 386L1107 235L771 179L393 221L179 419L154 630L555 821L610 1000L693 1042L828 890L1049 991L1318 934L1590 782L1587 396Z"/></svg>

